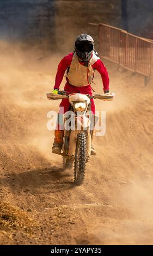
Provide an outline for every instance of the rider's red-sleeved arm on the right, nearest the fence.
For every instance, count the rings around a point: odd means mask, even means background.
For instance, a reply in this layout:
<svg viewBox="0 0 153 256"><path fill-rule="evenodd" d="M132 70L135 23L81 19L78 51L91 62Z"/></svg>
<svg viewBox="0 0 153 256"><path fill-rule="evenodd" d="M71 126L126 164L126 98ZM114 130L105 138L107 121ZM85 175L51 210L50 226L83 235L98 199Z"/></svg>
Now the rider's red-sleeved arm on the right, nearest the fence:
<svg viewBox="0 0 153 256"><path fill-rule="evenodd" d="M101 75L102 83L103 83L103 92L109 91L109 76L108 76L107 69L103 65L101 59L98 59L94 63L93 69L96 69Z"/></svg>

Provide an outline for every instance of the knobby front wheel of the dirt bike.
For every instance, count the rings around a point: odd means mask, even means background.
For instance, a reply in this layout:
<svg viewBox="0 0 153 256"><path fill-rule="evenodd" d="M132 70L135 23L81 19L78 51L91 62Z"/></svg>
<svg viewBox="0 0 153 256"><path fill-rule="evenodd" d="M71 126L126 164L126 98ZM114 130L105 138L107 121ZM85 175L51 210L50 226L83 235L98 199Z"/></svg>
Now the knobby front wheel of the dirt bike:
<svg viewBox="0 0 153 256"><path fill-rule="evenodd" d="M76 141L74 180L76 185L81 185L85 174L85 163L87 162L87 136L79 132Z"/></svg>

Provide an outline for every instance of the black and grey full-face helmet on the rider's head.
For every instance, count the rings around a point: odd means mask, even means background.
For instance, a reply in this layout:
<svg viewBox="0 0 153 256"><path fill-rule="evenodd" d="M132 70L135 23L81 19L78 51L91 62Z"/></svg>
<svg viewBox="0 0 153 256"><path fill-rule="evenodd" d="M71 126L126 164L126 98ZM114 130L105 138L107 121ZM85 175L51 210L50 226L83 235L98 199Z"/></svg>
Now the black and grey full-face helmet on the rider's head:
<svg viewBox="0 0 153 256"><path fill-rule="evenodd" d="M90 35L78 35L75 41L75 51L77 56L83 61L88 62L93 53L94 40Z"/></svg>

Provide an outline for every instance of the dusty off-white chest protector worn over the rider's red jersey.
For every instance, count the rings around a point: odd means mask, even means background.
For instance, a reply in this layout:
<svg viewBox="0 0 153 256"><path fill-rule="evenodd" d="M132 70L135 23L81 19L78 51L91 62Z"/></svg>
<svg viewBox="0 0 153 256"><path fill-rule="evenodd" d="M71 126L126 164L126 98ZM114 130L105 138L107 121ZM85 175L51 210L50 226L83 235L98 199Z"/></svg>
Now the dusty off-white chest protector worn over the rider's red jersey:
<svg viewBox="0 0 153 256"><path fill-rule="evenodd" d="M74 53L70 69L66 77L72 86L88 86L93 80L94 70L92 65L100 59L93 51L93 56L88 62L88 66L84 66L79 63L78 56Z"/></svg>

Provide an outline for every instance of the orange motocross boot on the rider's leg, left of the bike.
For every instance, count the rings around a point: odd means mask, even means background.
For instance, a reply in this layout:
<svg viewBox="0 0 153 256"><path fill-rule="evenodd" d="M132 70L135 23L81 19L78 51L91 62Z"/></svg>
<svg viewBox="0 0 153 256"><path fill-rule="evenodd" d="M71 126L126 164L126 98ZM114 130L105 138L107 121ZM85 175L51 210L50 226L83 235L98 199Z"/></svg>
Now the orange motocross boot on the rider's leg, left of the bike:
<svg viewBox="0 0 153 256"><path fill-rule="evenodd" d="M61 154L63 145L64 131L55 130L54 131L54 143L52 147L52 153Z"/></svg>

